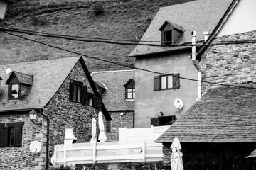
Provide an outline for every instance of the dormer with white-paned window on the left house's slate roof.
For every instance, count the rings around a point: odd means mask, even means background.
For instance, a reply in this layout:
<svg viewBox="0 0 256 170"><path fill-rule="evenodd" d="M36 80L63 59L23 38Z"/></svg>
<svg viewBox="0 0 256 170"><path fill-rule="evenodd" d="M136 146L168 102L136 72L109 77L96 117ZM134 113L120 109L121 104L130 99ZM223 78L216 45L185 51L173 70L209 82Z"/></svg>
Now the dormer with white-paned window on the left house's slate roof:
<svg viewBox="0 0 256 170"><path fill-rule="evenodd" d="M6 84L8 85L8 99L19 99L31 88L33 75L11 72Z"/></svg>

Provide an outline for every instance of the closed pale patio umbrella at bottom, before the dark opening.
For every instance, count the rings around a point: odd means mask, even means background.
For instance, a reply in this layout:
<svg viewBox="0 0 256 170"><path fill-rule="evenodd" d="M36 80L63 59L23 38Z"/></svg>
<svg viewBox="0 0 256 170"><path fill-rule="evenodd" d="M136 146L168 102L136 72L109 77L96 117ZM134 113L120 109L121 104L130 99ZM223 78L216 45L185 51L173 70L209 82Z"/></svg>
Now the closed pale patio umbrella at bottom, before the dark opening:
<svg viewBox="0 0 256 170"><path fill-rule="evenodd" d="M181 144L177 137L171 144L171 170L183 170Z"/></svg>

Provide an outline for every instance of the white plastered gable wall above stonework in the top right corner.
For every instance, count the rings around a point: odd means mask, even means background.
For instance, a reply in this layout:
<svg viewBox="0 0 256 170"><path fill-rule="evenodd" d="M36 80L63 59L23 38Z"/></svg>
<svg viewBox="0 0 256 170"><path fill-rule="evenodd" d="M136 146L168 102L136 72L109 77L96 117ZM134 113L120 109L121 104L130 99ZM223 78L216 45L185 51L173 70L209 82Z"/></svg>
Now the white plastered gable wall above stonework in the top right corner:
<svg viewBox="0 0 256 170"><path fill-rule="evenodd" d="M256 0L240 0L217 37L256 30Z"/></svg>

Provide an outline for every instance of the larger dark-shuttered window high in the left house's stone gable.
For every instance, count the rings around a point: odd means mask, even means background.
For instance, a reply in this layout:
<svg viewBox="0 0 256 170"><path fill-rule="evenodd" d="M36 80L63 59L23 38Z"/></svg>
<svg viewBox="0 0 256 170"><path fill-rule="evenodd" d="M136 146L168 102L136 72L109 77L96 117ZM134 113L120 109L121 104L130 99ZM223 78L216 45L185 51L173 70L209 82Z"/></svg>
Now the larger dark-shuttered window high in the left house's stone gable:
<svg viewBox="0 0 256 170"><path fill-rule="evenodd" d="M70 82L69 101L86 105L86 91L87 88L86 86L83 86L82 82L73 80L72 82Z"/></svg>

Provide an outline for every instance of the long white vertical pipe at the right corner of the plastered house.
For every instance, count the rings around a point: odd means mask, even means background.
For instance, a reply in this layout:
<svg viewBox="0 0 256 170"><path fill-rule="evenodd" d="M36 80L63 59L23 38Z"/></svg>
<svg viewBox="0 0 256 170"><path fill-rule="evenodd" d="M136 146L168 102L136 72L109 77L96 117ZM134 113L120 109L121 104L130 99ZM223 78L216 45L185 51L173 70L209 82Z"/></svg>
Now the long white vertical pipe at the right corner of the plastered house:
<svg viewBox="0 0 256 170"><path fill-rule="evenodd" d="M201 65L196 62L196 31L192 31L192 62L193 65L196 67L198 70L198 98L196 100L199 100L202 96L202 87L201 87Z"/></svg>

